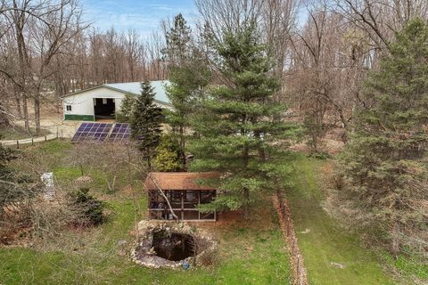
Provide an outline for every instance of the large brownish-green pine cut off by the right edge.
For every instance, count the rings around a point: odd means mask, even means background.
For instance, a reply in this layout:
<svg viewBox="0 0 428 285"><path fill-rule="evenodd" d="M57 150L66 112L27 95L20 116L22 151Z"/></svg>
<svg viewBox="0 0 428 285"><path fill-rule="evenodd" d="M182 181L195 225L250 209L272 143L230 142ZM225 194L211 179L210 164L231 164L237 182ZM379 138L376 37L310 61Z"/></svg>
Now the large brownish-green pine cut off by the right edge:
<svg viewBox="0 0 428 285"><path fill-rule="evenodd" d="M428 25L413 20L367 78L371 108L358 110L340 161L344 198L387 233L394 253L427 221L421 206L428 199L427 59Z"/></svg>

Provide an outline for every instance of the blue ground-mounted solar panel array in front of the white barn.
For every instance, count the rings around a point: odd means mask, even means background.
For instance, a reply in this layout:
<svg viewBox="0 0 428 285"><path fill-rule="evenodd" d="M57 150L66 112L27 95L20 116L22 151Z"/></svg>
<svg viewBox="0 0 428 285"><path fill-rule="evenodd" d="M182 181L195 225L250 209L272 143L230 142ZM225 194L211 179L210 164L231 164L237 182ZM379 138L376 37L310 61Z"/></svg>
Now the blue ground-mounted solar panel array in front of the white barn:
<svg viewBox="0 0 428 285"><path fill-rule="evenodd" d="M128 142L128 124L82 123L71 142Z"/></svg>

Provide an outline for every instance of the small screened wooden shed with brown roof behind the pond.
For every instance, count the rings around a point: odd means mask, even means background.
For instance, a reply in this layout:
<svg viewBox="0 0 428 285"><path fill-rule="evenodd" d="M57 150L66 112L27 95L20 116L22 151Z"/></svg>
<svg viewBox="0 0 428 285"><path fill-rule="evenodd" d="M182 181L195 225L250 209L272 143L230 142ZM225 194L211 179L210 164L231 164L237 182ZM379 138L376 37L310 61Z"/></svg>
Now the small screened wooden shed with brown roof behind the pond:
<svg viewBox="0 0 428 285"><path fill-rule="evenodd" d="M161 190L169 199L179 220L216 221L217 213L201 213L199 206L216 197L216 189L198 184L198 179L217 178L216 173L152 172L147 175L144 187L148 191L149 217L155 220L174 220Z"/></svg>

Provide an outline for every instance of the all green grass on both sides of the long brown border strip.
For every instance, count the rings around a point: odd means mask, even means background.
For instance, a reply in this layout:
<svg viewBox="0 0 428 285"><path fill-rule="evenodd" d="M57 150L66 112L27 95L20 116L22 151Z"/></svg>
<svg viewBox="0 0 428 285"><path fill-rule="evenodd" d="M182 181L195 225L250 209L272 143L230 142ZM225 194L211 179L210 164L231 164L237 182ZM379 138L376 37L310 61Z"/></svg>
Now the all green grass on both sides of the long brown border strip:
<svg viewBox="0 0 428 285"><path fill-rule="evenodd" d="M52 170L64 185L80 175L70 152L75 145L56 140L28 146L21 153L31 155L32 164ZM28 160L28 159L27 159ZM26 169L26 159L15 165ZM427 266L408 256L392 259L377 256L365 248L355 234L343 230L322 208L324 194L317 175L327 160L298 155L294 186L287 191L300 251L308 270L309 283L394 284L386 267L423 279ZM126 185L126 171L118 169L117 189ZM276 214L269 199L260 199L251 221L237 219L209 225L219 241L218 262L212 268L190 271L153 270L135 265L128 256L119 256L117 242L128 240L127 252L135 238L130 234L144 217L146 198L137 191L106 194L103 177L96 167L85 169L93 178L95 196L106 200L108 222L85 232L62 232L62 249L0 248L0 284L287 284L290 282L288 256L284 249ZM139 184L139 183L136 183ZM141 185L141 184L139 184ZM141 186L140 186L141 187ZM307 231L309 230L309 232ZM307 233L304 233L307 232ZM338 268L333 264L343 265ZM401 282L400 282L401 283ZM411 282L408 282L411 283Z"/></svg>

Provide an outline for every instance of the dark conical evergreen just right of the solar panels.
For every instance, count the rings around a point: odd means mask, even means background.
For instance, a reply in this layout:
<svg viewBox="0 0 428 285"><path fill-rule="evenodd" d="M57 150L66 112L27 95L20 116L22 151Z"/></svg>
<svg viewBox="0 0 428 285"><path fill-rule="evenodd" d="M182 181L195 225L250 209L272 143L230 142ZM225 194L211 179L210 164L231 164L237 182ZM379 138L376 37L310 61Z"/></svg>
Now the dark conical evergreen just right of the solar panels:
<svg viewBox="0 0 428 285"><path fill-rule="evenodd" d="M147 166L152 168L152 157L161 140L161 108L153 102L154 92L149 81L141 84L141 95L138 96L136 107L131 119L131 137L136 140L138 149L143 152Z"/></svg>

